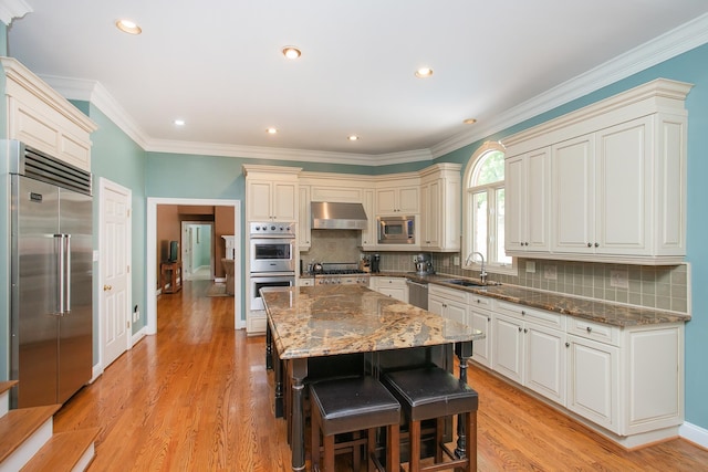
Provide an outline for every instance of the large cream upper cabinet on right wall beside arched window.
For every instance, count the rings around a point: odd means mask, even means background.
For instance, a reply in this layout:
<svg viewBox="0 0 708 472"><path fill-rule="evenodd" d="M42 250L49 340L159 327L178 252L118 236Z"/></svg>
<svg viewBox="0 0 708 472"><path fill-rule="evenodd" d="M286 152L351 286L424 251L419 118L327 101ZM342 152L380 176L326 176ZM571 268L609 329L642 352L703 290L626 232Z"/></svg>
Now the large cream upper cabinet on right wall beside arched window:
<svg viewBox="0 0 708 472"><path fill-rule="evenodd" d="M507 139L507 252L681 262L690 87L659 78Z"/></svg>

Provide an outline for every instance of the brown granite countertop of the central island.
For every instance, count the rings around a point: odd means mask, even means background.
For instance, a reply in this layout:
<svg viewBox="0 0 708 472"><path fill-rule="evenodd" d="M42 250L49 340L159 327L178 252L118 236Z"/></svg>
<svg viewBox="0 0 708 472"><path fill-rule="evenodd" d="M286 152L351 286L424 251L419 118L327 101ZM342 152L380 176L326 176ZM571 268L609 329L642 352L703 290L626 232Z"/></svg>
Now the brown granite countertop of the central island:
<svg viewBox="0 0 708 472"><path fill-rule="evenodd" d="M281 359L435 346L485 334L361 285L264 287Z"/></svg>

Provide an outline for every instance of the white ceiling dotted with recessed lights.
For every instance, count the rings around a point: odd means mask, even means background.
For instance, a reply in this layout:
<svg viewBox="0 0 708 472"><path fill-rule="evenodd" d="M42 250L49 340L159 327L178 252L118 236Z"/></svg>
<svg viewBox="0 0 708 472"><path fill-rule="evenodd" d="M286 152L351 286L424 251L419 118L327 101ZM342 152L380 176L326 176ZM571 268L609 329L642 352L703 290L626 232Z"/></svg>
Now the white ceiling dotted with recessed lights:
<svg viewBox="0 0 708 472"><path fill-rule="evenodd" d="M147 150L351 164L438 156L529 117L523 104L622 78L607 73L618 56L621 73L652 65L636 59L650 44L681 52L662 38L708 41L691 33L706 0L12 1L32 11L11 23L9 54L65 95L102 91ZM433 77L416 78L424 65Z"/></svg>

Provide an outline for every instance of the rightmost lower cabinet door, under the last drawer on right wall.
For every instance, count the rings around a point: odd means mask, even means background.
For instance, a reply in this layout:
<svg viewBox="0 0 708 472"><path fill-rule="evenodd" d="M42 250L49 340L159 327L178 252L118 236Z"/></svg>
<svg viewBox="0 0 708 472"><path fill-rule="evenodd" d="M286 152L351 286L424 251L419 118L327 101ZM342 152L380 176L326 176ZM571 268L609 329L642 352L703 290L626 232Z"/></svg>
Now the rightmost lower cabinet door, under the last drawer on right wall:
<svg viewBox="0 0 708 472"><path fill-rule="evenodd" d="M568 409L618 433L618 348L571 335L568 343Z"/></svg>

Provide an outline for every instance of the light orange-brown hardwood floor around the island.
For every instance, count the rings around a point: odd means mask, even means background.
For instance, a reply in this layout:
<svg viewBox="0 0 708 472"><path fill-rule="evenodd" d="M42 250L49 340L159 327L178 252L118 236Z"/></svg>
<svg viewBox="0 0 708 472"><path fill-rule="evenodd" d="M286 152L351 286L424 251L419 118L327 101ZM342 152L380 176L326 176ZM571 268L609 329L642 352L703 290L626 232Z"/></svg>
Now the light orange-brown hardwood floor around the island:
<svg viewBox="0 0 708 472"><path fill-rule="evenodd" d="M208 281L158 300L139 342L56 415L55 430L97 427L90 471L289 471L272 413L263 337L233 331L232 300ZM480 471L699 471L708 451L676 439L625 451L477 368Z"/></svg>

